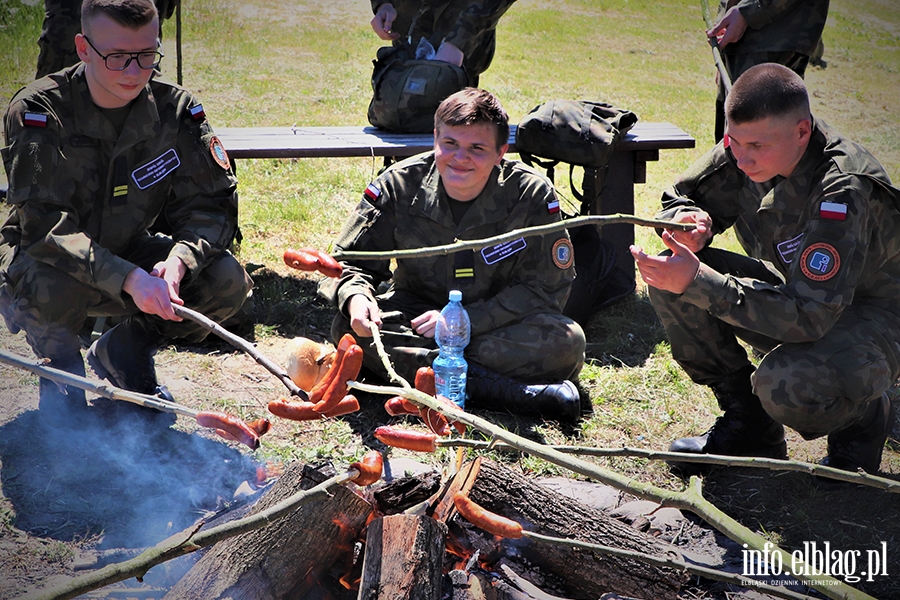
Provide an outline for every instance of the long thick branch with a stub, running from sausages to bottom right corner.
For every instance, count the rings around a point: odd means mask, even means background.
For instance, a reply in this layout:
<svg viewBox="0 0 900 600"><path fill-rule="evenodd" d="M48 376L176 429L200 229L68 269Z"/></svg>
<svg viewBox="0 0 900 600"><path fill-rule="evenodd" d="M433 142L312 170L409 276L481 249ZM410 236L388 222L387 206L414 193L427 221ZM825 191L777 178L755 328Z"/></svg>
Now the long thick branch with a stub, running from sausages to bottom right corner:
<svg viewBox="0 0 900 600"><path fill-rule="evenodd" d="M611 485L616 489L627 491L640 498L653 500L663 506L673 506L678 509L693 512L735 542L747 544L747 547L753 550L766 550L769 555L773 557L777 555L778 558L781 559L781 564L797 567L799 573L792 573L792 575L798 580L803 581L809 587L818 590L828 598L836 600L875 600L871 596L860 592L834 577L811 575L811 573L816 572L812 567L805 562L796 561L789 552L782 550L778 546L773 546L769 540L742 525L706 500L701 493L700 480L696 477L691 478L690 484L684 491L675 492L665 490L649 483L635 481L630 477L565 454L545 444L523 438L498 427L490 421L467 413L456 406L444 404L437 398L418 390L369 385L359 382L350 382L349 386L373 394L403 396L417 404L427 406L428 408L443 413L450 420L465 423L470 427L474 427L475 429L486 433L496 440L505 442L509 446L528 452L547 462L559 465L607 485Z"/></svg>

